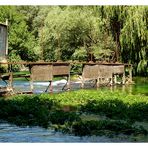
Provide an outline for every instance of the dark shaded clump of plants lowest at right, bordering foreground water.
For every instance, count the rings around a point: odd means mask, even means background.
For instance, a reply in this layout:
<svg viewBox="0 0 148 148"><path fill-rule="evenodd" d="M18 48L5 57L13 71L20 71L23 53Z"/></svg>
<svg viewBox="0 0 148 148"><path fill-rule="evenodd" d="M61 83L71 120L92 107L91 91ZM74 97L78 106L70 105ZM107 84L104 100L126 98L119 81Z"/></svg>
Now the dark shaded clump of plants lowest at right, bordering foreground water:
<svg viewBox="0 0 148 148"><path fill-rule="evenodd" d="M86 136L86 135L117 135L117 134L144 134L147 135L147 131L141 127L135 127L127 122L121 121L110 121L110 120L101 120L101 121L81 121L76 122L72 125L72 130L77 136Z"/></svg>

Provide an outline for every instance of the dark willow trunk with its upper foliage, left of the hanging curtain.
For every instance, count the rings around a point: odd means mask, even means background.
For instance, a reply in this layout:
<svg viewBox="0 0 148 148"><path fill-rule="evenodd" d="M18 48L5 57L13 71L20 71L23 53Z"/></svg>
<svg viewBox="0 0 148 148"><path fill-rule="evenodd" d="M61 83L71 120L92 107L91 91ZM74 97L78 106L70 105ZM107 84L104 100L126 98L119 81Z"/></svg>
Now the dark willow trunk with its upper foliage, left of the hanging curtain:
<svg viewBox="0 0 148 148"><path fill-rule="evenodd" d="M105 25L116 43L114 61L117 62L121 61L120 33L125 18L125 7L126 6L99 6L98 9L99 16L105 19Z"/></svg>

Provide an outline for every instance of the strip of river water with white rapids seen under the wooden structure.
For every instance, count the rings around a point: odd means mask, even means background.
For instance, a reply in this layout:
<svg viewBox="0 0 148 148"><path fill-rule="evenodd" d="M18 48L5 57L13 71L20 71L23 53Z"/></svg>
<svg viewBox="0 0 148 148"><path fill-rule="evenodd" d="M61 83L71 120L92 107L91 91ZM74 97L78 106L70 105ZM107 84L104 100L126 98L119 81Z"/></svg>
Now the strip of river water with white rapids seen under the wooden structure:
<svg viewBox="0 0 148 148"><path fill-rule="evenodd" d="M148 96L148 78L146 82L137 82L132 85L116 85L116 86L110 86L110 87L100 87L98 89L110 89L110 90L119 90L123 92L127 92L130 94L143 94ZM52 92L62 92L62 88L66 84L66 80L59 80L54 81L52 83ZM49 82L34 82L34 93L44 93L49 85ZM0 86L5 86L5 83L0 81ZM14 81L13 83L14 91L15 92L23 92L23 91L30 91L30 83L27 81ZM80 82L71 82L71 90L78 90L81 88ZM94 89L93 88L94 83L86 83L85 88L88 89ZM66 88L66 87L65 87ZM65 89L66 90L66 89Z"/></svg>

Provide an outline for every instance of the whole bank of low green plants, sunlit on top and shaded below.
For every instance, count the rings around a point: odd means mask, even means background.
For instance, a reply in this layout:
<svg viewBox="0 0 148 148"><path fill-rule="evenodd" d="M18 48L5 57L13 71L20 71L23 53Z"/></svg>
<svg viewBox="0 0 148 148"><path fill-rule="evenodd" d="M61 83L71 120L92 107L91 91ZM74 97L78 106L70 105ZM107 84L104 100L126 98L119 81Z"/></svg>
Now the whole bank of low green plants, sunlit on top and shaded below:
<svg viewBox="0 0 148 148"><path fill-rule="evenodd" d="M18 95L0 99L0 119L85 135L148 135L148 97L107 90Z"/></svg>

